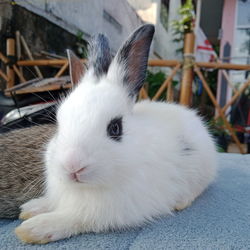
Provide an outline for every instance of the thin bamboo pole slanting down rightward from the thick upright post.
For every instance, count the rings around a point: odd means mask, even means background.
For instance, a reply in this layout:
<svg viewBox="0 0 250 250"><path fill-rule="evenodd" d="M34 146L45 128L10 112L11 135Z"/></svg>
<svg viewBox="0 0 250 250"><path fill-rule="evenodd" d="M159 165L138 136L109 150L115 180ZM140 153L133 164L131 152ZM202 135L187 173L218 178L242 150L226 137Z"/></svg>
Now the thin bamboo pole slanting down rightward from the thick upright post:
<svg viewBox="0 0 250 250"><path fill-rule="evenodd" d="M201 71L200 71L200 69L198 68L197 65L195 65L194 70L195 70L196 74L199 76L199 78L201 79L201 82L202 82L202 85L203 85L204 89L207 91L208 96L210 97L212 103L214 104L214 106L215 106L216 109L218 110L218 112L219 112L221 118L223 119L223 121L224 121L224 123L225 123L226 129L230 132L230 134L231 134L233 140L236 142L236 145L238 146L238 148L239 148L239 150L240 150L240 153L241 153L241 154L244 154L245 152L244 152L244 149L243 149L242 145L240 144L239 139L237 138L237 136L236 136L236 134L235 134L233 128L231 127L231 125L230 125L229 122L227 121L226 116L225 116L224 113L222 112L222 109L221 109L220 105L219 105L218 102L216 101L216 98L214 97L214 95L213 95L211 89L209 88L208 83L206 82L206 80L205 80L203 74L201 73Z"/></svg>

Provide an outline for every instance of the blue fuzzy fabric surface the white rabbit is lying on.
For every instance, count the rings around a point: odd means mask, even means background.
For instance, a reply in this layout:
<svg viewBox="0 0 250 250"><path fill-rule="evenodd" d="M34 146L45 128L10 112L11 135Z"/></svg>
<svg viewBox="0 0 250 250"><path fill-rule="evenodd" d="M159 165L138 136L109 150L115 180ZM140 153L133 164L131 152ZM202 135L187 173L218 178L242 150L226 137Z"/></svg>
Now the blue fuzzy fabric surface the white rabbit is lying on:
<svg viewBox="0 0 250 250"><path fill-rule="evenodd" d="M215 183L191 207L123 232L26 245L0 220L0 249L250 249L250 155L219 154Z"/></svg>

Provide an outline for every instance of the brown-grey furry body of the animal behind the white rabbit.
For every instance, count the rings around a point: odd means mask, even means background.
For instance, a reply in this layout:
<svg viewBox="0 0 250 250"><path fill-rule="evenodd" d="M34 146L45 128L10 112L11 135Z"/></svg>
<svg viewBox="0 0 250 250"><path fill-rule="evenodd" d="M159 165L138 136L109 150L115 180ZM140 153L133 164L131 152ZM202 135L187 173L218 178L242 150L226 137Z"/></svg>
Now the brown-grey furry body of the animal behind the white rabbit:
<svg viewBox="0 0 250 250"><path fill-rule="evenodd" d="M0 218L16 218L19 207L43 193L43 153L53 125L33 126L0 135Z"/></svg>

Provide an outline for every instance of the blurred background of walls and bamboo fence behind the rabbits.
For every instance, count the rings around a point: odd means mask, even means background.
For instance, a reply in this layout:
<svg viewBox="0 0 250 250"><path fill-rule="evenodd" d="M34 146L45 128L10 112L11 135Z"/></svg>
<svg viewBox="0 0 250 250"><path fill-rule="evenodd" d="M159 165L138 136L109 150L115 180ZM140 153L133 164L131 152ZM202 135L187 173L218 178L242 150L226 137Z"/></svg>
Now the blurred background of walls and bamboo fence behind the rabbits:
<svg viewBox="0 0 250 250"><path fill-rule="evenodd" d="M85 63L104 33L115 55L144 23L156 33L138 98L196 108L219 151L249 153L250 0L0 0L0 132L51 122L72 87L66 49Z"/></svg>

